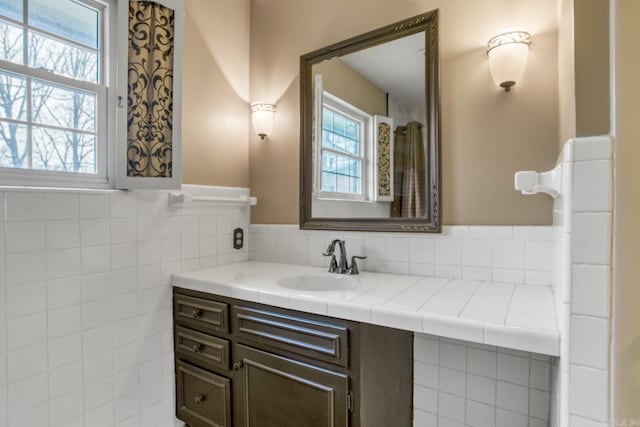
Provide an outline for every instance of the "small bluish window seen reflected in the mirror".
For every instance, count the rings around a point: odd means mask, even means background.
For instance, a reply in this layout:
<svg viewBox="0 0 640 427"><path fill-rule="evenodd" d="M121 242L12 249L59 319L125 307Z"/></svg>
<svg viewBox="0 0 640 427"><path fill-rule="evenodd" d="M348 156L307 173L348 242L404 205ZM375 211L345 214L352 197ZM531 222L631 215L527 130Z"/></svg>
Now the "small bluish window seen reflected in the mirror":
<svg viewBox="0 0 640 427"><path fill-rule="evenodd" d="M324 92L320 197L367 199L370 121L367 113Z"/></svg>

